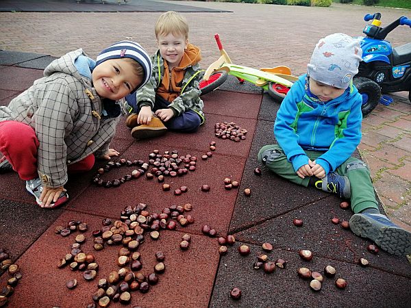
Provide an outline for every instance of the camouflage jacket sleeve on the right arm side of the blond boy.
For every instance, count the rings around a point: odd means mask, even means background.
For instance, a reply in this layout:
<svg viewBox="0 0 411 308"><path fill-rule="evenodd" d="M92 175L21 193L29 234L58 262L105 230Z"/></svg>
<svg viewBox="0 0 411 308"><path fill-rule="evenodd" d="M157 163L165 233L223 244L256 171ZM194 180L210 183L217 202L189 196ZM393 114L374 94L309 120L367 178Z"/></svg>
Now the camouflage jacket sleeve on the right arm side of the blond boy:
<svg viewBox="0 0 411 308"><path fill-rule="evenodd" d="M200 75L198 72L200 70L199 64L192 66L192 69L188 69L184 75L184 83L182 87L184 92L180 94L179 97L176 97L174 101L169 105L170 108L173 108L178 116L190 109L195 109L197 111L203 110L203 101L200 99ZM189 73L190 72L190 73ZM196 75L197 74L197 75ZM194 76L192 79L191 77Z"/></svg>

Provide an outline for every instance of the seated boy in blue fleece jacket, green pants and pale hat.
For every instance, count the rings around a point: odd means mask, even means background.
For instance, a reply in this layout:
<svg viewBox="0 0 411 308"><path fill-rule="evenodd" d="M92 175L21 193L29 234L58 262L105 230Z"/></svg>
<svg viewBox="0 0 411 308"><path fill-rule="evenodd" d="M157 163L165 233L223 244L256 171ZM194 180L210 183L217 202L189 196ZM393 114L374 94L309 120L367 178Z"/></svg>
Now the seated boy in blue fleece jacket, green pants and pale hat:
<svg viewBox="0 0 411 308"><path fill-rule="evenodd" d="M353 233L396 255L411 253L411 233L379 214L369 169L351 157L361 140L362 98L353 86L362 60L345 34L319 40L308 74L291 87L274 125L278 145L260 149L269 170L299 185L351 199Z"/></svg>

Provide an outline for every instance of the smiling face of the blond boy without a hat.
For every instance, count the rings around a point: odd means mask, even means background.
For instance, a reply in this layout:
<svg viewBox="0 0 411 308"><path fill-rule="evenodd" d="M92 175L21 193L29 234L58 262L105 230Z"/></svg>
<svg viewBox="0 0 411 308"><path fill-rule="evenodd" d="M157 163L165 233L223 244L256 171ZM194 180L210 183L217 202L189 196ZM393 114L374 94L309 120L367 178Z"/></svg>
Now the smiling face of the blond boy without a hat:
<svg viewBox="0 0 411 308"><path fill-rule="evenodd" d="M178 66L187 48L188 40L183 35L159 35L157 38L160 55L167 61L171 68Z"/></svg>

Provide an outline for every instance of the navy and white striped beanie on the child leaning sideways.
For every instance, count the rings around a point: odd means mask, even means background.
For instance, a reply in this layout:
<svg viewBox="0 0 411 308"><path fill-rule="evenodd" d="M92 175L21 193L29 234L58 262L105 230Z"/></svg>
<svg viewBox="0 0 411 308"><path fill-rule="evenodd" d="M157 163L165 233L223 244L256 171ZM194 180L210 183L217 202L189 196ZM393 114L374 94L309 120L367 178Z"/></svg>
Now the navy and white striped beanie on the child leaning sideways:
<svg viewBox="0 0 411 308"><path fill-rule="evenodd" d="M106 60L121 59L123 57L129 57L130 59L136 60L144 70L142 83L132 91L133 93L147 84L153 69L149 54L140 46L140 44L132 42L131 40L116 42L99 53L97 56L96 66Z"/></svg>

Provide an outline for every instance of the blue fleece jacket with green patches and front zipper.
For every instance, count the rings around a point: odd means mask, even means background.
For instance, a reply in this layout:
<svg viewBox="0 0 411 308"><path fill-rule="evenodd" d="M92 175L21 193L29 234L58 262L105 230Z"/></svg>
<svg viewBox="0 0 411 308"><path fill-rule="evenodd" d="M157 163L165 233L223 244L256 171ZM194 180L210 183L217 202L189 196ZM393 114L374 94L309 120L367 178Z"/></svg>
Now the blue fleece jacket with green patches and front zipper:
<svg viewBox="0 0 411 308"><path fill-rule="evenodd" d="M316 163L333 172L356 150L361 141L360 93L352 82L332 101L321 102L302 75L279 107L274 135L294 170L308 164L304 150L323 151Z"/></svg>

